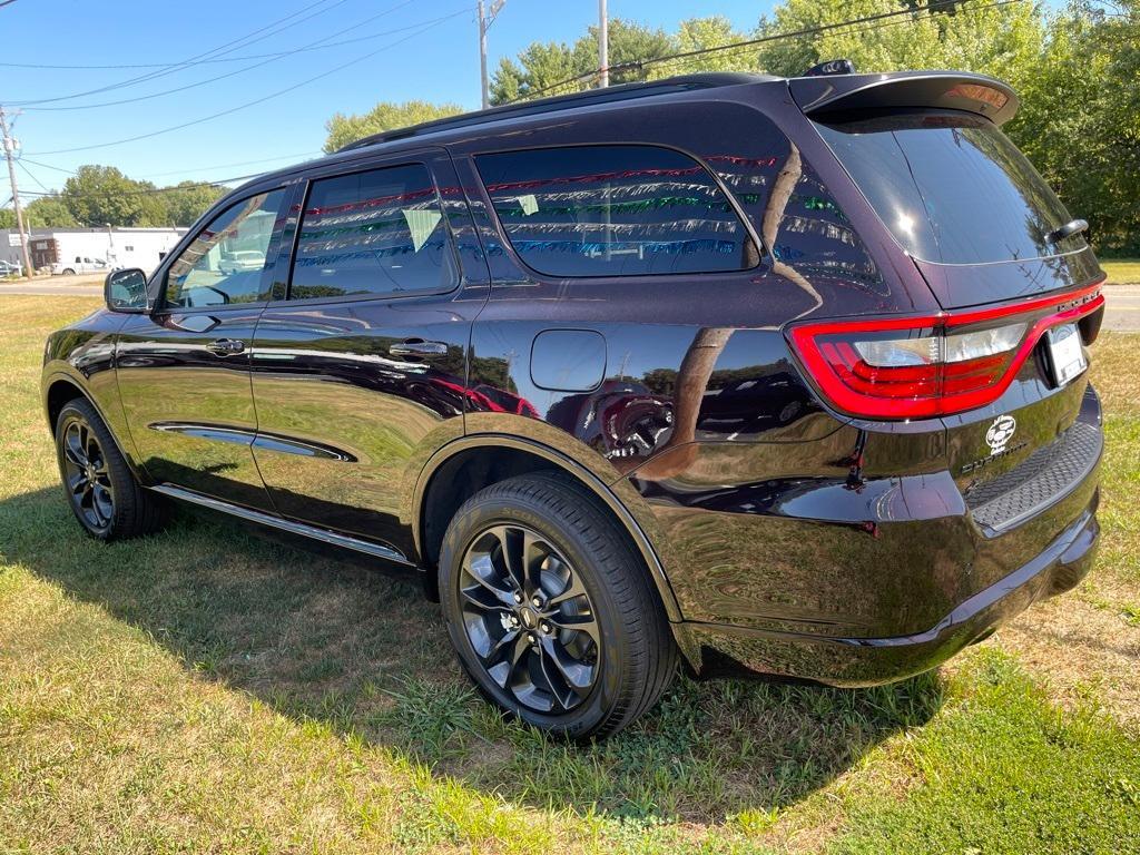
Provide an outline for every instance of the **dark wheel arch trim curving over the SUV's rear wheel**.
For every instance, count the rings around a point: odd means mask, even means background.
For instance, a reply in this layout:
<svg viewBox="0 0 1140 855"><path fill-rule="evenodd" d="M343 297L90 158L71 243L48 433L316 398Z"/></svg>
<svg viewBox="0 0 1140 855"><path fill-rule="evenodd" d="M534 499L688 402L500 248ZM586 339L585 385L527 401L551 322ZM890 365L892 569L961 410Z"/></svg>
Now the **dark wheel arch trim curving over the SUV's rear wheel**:
<svg viewBox="0 0 1140 855"><path fill-rule="evenodd" d="M536 440L498 433L467 434L453 440L432 455L416 481L413 494L413 538L416 553L427 568L425 586L429 595L433 598L437 595L435 563L439 559L439 545L447 523L459 505L484 486L543 470L567 472L598 498L644 560L670 624L681 621L681 609L665 565L653 539L646 532L646 528L652 527L649 519L651 513L648 506L640 508L640 513L628 506L632 498L640 499L640 496L634 494L634 497L622 498L596 473L559 449ZM486 477L472 479L472 473L480 471ZM471 483L465 484L465 480ZM455 488L456 483L459 489ZM633 491L632 487L629 490Z"/></svg>

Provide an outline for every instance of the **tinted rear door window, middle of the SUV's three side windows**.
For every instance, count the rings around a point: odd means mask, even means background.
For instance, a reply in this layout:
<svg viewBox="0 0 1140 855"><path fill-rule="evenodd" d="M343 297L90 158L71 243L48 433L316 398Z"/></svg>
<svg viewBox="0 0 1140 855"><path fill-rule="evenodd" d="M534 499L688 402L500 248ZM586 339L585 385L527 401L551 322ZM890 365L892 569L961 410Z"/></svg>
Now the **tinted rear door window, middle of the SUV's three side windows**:
<svg viewBox="0 0 1140 855"><path fill-rule="evenodd" d="M290 299L449 291L458 283L427 168L390 166L314 181Z"/></svg>

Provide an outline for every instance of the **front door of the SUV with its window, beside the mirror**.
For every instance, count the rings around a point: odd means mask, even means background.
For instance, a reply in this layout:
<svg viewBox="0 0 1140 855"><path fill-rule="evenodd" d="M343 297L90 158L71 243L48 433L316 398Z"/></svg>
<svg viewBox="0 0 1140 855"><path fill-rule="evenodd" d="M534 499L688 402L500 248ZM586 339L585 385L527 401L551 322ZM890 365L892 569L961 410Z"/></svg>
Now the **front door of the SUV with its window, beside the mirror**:
<svg viewBox="0 0 1140 855"><path fill-rule="evenodd" d="M250 345L274 285L293 187L251 192L218 212L155 277L156 308L117 343L123 409L157 482L269 508L250 446ZM258 266L234 267L236 252ZM152 292L153 293L153 292Z"/></svg>

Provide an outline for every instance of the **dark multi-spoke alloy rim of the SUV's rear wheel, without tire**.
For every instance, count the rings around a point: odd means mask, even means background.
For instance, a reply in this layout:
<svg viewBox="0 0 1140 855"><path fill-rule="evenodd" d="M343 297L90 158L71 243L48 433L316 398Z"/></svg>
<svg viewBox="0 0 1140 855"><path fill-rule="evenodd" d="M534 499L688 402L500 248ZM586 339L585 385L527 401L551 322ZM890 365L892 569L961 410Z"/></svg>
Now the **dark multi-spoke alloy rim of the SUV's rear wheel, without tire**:
<svg viewBox="0 0 1140 855"><path fill-rule="evenodd" d="M578 707L598 676L601 630L570 562L516 523L486 529L463 556L463 625L487 676L544 714Z"/></svg>

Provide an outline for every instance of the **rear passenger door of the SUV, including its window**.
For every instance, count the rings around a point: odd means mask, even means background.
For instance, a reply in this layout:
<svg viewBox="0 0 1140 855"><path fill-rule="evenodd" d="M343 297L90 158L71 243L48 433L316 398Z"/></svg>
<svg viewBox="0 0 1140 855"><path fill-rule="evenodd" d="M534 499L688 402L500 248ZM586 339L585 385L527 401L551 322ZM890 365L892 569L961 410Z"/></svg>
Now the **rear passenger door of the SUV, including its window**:
<svg viewBox="0 0 1140 855"><path fill-rule="evenodd" d="M252 357L253 451L279 513L408 554L401 495L415 462L463 433L487 279L445 152L311 176L288 299L266 309Z"/></svg>

